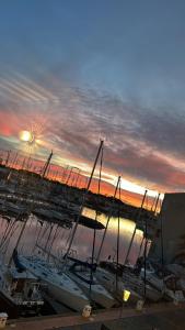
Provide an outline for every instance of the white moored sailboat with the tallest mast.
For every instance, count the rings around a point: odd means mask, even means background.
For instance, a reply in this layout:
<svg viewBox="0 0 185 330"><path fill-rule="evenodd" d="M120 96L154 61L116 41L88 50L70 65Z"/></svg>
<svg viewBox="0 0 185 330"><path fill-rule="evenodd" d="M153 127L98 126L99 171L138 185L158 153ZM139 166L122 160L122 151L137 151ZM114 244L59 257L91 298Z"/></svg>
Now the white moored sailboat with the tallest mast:
<svg viewBox="0 0 185 330"><path fill-rule="evenodd" d="M101 145L99 147L99 152L93 165L93 169L91 173L91 177L89 180L89 185L86 187L86 194L92 180L92 176L95 169L95 165L103 145L103 141L101 141ZM20 263L28 270L32 274L36 275L41 280L47 285L48 293L55 297L56 300L67 305L68 307L74 310L81 310L84 305L89 304L89 299L86 295L89 293L89 280L90 274L83 272L83 276L79 276L78 272L71 272L68 267L68 258L71 250L71 244L80 222L81 212L83 209L85 195L83 196L83 202L79 209L79 216L76 220L71 238L69 241L69 245L67 249L67 253L62 260L62 267L60 271L57 271L55 265L45 262L41 257L25 257L19 256ZM94 278L94 282L91 283L91 293L93 296L93 300L100 304L103 307L112 307L115 304L114 298L106 292L106 289L99 285ZM84 293L83 293L84 290Z"/></svg>

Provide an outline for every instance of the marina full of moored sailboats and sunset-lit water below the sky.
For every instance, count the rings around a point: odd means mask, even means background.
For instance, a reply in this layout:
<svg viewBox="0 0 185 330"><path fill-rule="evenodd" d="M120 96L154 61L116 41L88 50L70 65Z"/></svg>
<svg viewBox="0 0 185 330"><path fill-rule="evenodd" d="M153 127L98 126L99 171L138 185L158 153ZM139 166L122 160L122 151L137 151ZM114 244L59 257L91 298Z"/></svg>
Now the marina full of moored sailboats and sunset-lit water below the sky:
<svg viewBox="0 0 185 330"><path fill-rule="evenodd" d="M78 199L73 187L63 184L59 199L58 190L54 194L59 183L45 178L53 153L34 186L22 172L14 169L13 176L13 169L2 165L0 306L10 327L14 318L18 329L23 329L24 322L26 327L34 322L35 329L41 329L41 323L43 329L50 323L60 329L61 318L63 327L85 324L85 319L100 327L100 321L116 320L117 315L127 319L137 317L138 311L148 315L184 306L184 264L164 263L164 251L157 253L153 248L165 198L160 212L160 194L149 211L146 190L140 208L134 208L130 219L123 218L120 209L126 207L118 202L119 176L105 213L85 204L103 144L101 141L86 189ZM41 198L35 198L38 183ZM99 194L100 187L101 172ZM62 197L63 189L68 194ZM76 186L76 194L78 189ZM160 234L161 246L164 239L163 232Z"/></svg>

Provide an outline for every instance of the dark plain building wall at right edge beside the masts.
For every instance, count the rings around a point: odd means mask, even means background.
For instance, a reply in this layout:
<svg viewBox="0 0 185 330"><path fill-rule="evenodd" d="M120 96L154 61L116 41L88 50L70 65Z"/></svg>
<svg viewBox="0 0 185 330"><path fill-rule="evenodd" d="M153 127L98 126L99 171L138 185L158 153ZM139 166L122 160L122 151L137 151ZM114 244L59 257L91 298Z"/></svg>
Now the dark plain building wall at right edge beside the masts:
<svg viewBox="0 0 185 330"><path fill-rule="evenodd" d="M164 263L171 263L181 252L185 252L185 194L165 194L161 215L157 222L157 233L150 250L150 257L161 260L161 221Z"/></svg>

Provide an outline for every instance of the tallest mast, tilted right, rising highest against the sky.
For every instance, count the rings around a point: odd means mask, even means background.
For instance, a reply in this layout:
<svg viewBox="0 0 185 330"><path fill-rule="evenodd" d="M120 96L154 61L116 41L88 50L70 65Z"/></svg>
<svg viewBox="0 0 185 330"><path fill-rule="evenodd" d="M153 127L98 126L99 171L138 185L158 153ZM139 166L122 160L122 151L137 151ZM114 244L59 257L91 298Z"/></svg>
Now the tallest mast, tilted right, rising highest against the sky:
<svg viewBox="0 0 185 330"><path fill-rule="evenodd" d="M83 207L84 207L84 201L85 201L86 195L88 195L90 186L91 186L91 182L92 182L92 178L93 178L93 175L94 175L94 170L95 170L95 167L96 167L96 164L97 164L97 161L99 161L101 150L103 147L103 143L104 143L104 141L101 140L99 151L97 151L97 154L96 154L96 157L95 157L95 161L94 161L94 165L93 165L93 168L92 168L92 172L91 172L91 176L90 176L89 182L88 182L86 190L85 190L85 194L83 195L83 199L82 199L82 204L81 204L81 207L80 207L80 210L79 210L79 215L78 215L78 218L77 218L77 221L76 221L72 234L71 234L71 239L69 241L67 253L65 255L65 262L63 262L62 271L65 270L65 267L67 265L68 255L69 255L69 252L71 250L71 245L72 245L72 242L73 242L73 239L74 239L74 235L76 235L76 231L77 231L77 228L78 228L78 224L79 224L79 221L80 221L80 216L81 216Z"/></svg>

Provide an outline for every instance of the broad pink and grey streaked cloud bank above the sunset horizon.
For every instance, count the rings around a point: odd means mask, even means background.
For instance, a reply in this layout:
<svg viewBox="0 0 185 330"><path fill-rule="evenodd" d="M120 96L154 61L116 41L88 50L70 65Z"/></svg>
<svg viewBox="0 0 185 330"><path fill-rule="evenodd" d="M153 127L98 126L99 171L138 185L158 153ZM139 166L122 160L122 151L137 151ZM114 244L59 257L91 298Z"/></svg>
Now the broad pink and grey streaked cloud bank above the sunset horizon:
<svg viewBox="0 0 185 330"><path fill-rule="evenodd" d="M84 173L92 166L100 139L105 138L105 177L122 174L149 188L184 189L181 108L143 107L134 99L69 87L53 77L50 81L49 89L18 73L0 79L1 136L16 138L21 129L37 127L39 155L54 148L57 163L72 162ZM3 143L1 139L2 147Z"/></svg>

